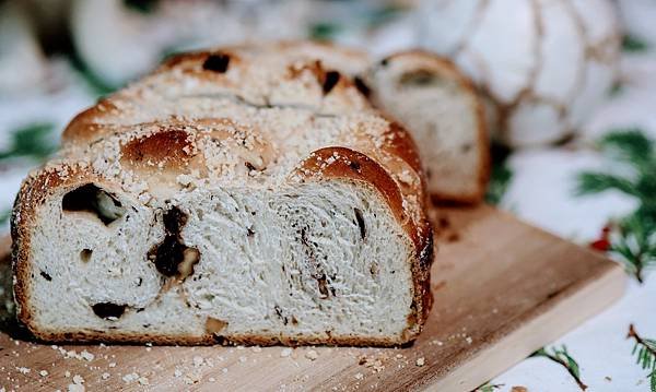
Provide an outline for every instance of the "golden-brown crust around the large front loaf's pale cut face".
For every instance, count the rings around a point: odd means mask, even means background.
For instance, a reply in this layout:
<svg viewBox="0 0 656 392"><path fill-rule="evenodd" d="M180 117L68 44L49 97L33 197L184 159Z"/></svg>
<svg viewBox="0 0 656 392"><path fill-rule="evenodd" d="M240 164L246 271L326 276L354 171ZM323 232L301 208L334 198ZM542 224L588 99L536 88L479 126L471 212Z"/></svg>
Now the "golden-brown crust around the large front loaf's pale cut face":
<svg viewBox="0 0 656 392"><path fill-rule="evenodd" d="M218 52L230 54L231 61L242 59L239 50L245 49L225 48L175 57L167 60L153 75L147 76L147 82L150 81L148 78L160 75L162 78L199 78L203 81L201 83L204 83L206 79L209 78L211 79L210 83L222 85L224 83L222 75L207 75L204 72L199 71L199 64L206 61L211 54ZM238 60L231 67L238 68L241 67L239 61L243 61L243 63L250 61L246 55L244 56L244 60ZM251 64L248 66L251 67ZM321 73L326 70L318 63L318 68L313 72ZM180 73L184 76L178 76ZM304 75L297 78L304 78ZM229 85L229 82L225 83ZM320 78L318 78L317 83L320 83ZM233 123L234 121L230 118L204 119L194 117L186 119L184 117L167 117L156 119L153 122L134 124L113 122L117 116L125 116L124 109L121 109L121 105L125 105L122 104L124 99L138 99L139 95L134 93L134 91L139 91L138 87L139 83L137 83L137 87L132 87L132 91L118 92L115 96L103 99L94 107L78 115L65 131L61 156L50 162L45 168L33 173L21 187L11 218L12 260L16 282L14 295L19 319L27 325L35 336L44 341L57 342L151 342L184 345L216 343L271 345L282 343L288 345L379 346L400 345L417 337L425 322L432 302L430 268L433 260L433 246L432 228L426 218L425 178L415 145L408 132L400 124L385 120L372 107L365 107L367 116L373 116L379 123L386 123L384 130L376 131L378 132L376 138L379 140L368 141L367 138L371 138L368 134L374 132L373 129L358 128L358 133L353 136L352 142L354 145L360 146L358 150L338 145L316 150L298 161L296 168L290 173L290 180L293 181L294 177L298 177L302 181L328 180L331 178L350 179L364 182L380 193L399 226L408 234L413 249L412 253L408 256L413 281L411 287L412 310L408 317L407 328L400 336L382 338L375 336L317 335L291 338L276 334L233 334L216 337L212 333L202 336L172 336L120 331L51 331L44 325L36 324L33 317L34 309L31 309L30 304L30 276L33 273L30 249L37 210L55 192L73 189L80 185L94 182L106 186L108 189L120 188L121 182L116 175L104 173L102 169L89 164L90 161L106 158L106 155L102 155L104 154L102 152L103 145L106 147L118 143L119 156L115 158L126 170L133 170L136 176L142 174L147 177L161 177L169 171L176 175L197 171L200 173L199 176L211 180L212 176L215 175L212 174L212 167L210 167L207 156L199 147L200 136L204 134L222 135L225 136L224 141L229 142L230 138L235 138L235 134L239 134L239 132L253 132L250 129L236 129L241 126ZM232 86L230 87L232 88ZM239 88L239 86L234 88ZM236 94L238 93L237 91ZM335 95L331 99L342 99L343 97L345 103L351 99L366 103L366 98L358 92L352 80L345 75L339 78L329 93ZM321 99L328 98L324 97ZM221 127L230 128L233 133L222 131L223 128ZM206 131L206 129L210 130ZM258 135L255 134L255 141L249 136L248 143L254 144L256 151L265 154L266 149L263 145L266 145L266 142L259 142L257 140ZM122 139L115 140L113 138ZM244 143L246 143L246 140L244 139ZM340 143L340 141L336 140L336 143ZM325 165L336 154L339 158L330 165ZM411 178L415 180L401 183L399 179L401 170L406 171L407 175L410 174ZM122 191L127 190L124 189Z"/></svg>

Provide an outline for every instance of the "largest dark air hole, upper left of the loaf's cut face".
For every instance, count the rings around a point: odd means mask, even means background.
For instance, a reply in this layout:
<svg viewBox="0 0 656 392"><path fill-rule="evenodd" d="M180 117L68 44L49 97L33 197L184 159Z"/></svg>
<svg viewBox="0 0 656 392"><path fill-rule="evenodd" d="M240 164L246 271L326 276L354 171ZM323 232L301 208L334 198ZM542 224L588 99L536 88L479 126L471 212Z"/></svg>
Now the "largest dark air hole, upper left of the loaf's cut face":
<svg viewBox="0 0 656 392"><path fill-rule="evenodd" d="M109 225L126 213L126 209L113 194L93 183L79 187L65 194L61 209L65 212L91 212L105 225Z"/></svg>

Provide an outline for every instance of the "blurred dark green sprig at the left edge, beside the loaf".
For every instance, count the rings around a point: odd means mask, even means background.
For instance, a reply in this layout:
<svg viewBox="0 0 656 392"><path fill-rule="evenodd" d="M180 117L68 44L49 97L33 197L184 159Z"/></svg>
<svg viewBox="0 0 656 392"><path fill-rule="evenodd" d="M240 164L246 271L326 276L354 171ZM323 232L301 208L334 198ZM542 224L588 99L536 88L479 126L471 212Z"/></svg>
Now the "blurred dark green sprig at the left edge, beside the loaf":
<svg viewBox="0 0 656 392"><path fill-rule="evenodd" d="M54 129L50 122L35 122L12 131L9 147L0 151L0 161L14 157L44 161L57 147L51 140Z"/></svg>

